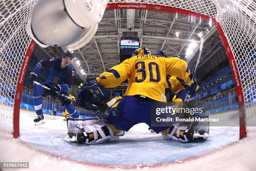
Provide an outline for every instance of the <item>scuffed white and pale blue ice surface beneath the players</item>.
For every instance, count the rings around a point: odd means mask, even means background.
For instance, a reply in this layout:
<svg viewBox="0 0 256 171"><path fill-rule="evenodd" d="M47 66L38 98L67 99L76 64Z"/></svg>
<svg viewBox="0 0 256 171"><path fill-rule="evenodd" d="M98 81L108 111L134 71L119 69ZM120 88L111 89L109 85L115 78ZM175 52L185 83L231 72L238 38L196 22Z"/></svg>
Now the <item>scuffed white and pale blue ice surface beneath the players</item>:
<svg viewBox="0 0 256 171"><path fill-rule="evenodd" d="M63 140L63 117L45 115L34 126L35 113L20 112L20 139L0 136L0 161L29 162L29 170L241 170L256 171L256 138L238 141L239 127L210 127L204 142L179 143L134 126L119 141L92 146ZM93 167L93 168L92 168ZM8 171L11 169L8 169ZM15 169L17 170L17 169Z"/></svg>

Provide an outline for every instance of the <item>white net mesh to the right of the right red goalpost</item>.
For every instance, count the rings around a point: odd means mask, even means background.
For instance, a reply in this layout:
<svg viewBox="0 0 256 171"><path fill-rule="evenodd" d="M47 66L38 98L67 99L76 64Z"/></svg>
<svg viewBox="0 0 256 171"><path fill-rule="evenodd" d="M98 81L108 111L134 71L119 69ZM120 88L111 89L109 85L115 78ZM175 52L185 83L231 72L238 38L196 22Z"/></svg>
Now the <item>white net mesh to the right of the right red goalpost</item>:
<svg viewBox="0 0 256 171"><path fill-rule="evenodd" d="M223 10L220 25L233 52L242 83L246 107L246 126L255 126L256 2L219 0L219 3ZM248 129L250 128L248 127Z"/></svg>

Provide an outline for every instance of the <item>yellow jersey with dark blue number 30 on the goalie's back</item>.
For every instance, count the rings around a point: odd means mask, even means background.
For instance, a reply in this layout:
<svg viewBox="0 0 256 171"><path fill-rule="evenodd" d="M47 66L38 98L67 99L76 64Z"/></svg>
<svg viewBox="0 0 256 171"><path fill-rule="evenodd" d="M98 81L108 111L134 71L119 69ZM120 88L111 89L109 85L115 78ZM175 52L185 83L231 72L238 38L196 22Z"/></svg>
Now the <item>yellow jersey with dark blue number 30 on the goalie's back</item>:
<svg viewBox="0 0 256 171"><path fill-rule="evenodd" d="M187 62L177 57L164 58L151 55L138 55L126 59L121 64L103 72L97 81L104 88L120 85L129 79L124 96L143 95L166 102L165 88L170 87L166 75L179 77L190 82ZM170 83L174 87L174 83Z"/></svg>

